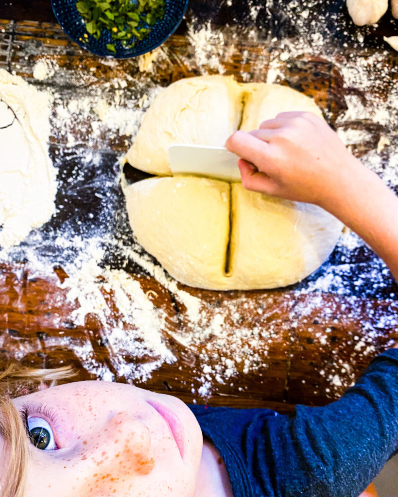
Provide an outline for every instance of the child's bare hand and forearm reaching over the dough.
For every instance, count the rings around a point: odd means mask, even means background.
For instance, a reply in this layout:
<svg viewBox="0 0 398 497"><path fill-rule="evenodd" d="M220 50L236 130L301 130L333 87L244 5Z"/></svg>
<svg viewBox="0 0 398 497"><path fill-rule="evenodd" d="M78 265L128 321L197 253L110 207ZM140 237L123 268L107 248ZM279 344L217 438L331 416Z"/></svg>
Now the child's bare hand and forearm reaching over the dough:
<svg viewBox="0 0 398 497"><path fill-rule="evenodd" d="M386 262L398 282L398 198L308 112L284 112L259 130L236 131L226 148L241 157L243 186L323 207Z"/></svg>

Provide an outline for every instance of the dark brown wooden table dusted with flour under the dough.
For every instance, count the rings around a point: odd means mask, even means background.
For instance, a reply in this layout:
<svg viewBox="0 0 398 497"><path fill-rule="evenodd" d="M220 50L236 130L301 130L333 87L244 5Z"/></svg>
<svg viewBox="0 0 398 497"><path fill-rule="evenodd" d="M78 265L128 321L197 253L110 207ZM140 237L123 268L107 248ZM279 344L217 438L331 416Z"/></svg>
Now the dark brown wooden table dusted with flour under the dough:
<svg viewBox="0 0 398 497"><path fill-rule="evenodd" d="M81 50L55 23L49 1L5 2L0 6L0 68L55 92L54 113L57 106L66 108L74 98L98 98L102 88L113 104L122 90L120 107L127 108L129 98L143 95L148 88L203 72L215 74L220 67L223 74L239 81L267 81L267 74L277 70L274 80L313 96L329 123L346 137L350 131L366 132L366 139L361 135L351 143L353 152L365 162L380 138L387 138L390 146L379 154L383 173L389 156L396 152L394 129L366 113L358 117L352 99L366 109L369 102L374 105L376 95L380 105L396 115L389 98L397 86L397 56L386 50L381 38L395 32L395 21L387 15L378 27L357 28L343 1L308 1L307 12L304 2L297 12L289 11L290 2L282 0L268 7L258 2L257 10L255 2L229 3L192 1L177 33L162 46L163 55L146 73L140 72L136 60L109 64ZM193 26L207 35L210 31L222 33L222 38L210 36L208 41L210 52L217 53L215 69L200 59ZM316 43L312 36L320 29L326 30L321 35L327 43ZM364 41L358 42L362 35ZM299 37L306 40L301 50L295 41ZM357 85L345 80L347 66L355 68L372 58L376 60L374 73L370 65L363 69L363 80L358 78ZM57 70L51 78L39 81L33 71L43 60L55 63ZM381 67L384 76L379 74ZM115 79L125 79L125 86L113 87ZM73 316L79 302L70 302L69 289L61 288L60 283L68 276L66 255L55 250L54 244L57 236L72 232L83 239L93 233L111 233L123 249L134 244L117 182L117 158L126 151L131 137L101 128L88 145L85 138L92 130L87 116L63 122L67 129L57 129L57 123L59 119L54 118L50 155L60 171L57 205L62 208L43 227L47 238L42 237L39 244L28 239L8 260L0 261L1 354L40 367L72 363L81 371L81 379L110 375L117 381L129 381L130 373L120 373L123 367L150 364L157 358L134 355L135 346L129 349L128 344L121 350L114 348L109 341L112 322L122 323L125 332L134 337L132 341L139 340L140 330L120 317L111 295L106 295L109 323L101 323L95 313L88 313L84 323L76 323ZM394 166L390 168L394 170ZM76 171L80 171L79 177ZM126 173L133 181L143 177L132 169ZM104 211L112 215L106 227L101 217ZM222 315L223 345L211 333L202 342L197 339L186 344L190 333L202 336L197 329L200 321L193 324L179 293L145 271L136 259L126 258L119 248L105 243L103 266L131 274L154 308L162 310L166 316L163 340L176 357L136 383L168 391L186 402L271 407L280 412L290 411L297 403L324 405L341 395L372 357L397 337L397 287L374 253L360 243L350 247L342 242L314 275L285 289L220 293L180 285L179 291L199 299L201 322ZM28 255L32 250L47 258L51 274L41 277L32 269ZM247 336L242 330L249 330ZM253 330L262 331L254 335ZM89 352L85 355L82 350ZM244 354L249 367L242 359ZM233 361L232 371L228 372L225 360Z"/></svg>

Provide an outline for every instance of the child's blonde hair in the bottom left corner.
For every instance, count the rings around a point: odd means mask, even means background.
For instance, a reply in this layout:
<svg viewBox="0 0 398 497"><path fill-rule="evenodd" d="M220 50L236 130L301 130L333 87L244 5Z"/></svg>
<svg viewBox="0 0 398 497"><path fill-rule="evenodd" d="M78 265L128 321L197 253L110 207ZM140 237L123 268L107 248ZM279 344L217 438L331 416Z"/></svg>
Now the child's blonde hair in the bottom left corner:
<svg viewBox="0 0 398 497"><path fill-rule="evenodd" d="M0 480L1 497L22 497L28 465L29 440L20 414L12 398L37 390L38 385L50 382L53 386L76 376L71 366L57 369L31 369L19 364L0 366L0 435L5 454L2 467L5 472Z"/></svg>

